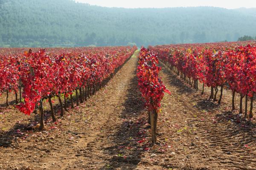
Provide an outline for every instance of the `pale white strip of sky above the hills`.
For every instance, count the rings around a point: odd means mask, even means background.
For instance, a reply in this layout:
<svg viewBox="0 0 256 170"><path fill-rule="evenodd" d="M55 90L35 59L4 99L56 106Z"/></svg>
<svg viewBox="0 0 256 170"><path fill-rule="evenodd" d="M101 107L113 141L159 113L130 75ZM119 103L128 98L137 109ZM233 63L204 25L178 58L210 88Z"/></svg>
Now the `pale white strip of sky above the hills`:
<svg viewBox="0 0 256 170"><path fill-rule="evenodd" d="M228 9L256 8L256 0L76 0L91 5L123 8L215 6Z"/></svg>

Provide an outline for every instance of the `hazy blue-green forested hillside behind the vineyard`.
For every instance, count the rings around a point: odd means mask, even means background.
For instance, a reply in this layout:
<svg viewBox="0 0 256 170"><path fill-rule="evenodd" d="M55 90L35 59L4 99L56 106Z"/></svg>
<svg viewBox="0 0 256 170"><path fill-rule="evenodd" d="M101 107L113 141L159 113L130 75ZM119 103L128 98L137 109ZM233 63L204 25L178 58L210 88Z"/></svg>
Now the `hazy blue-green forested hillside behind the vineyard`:
<svg viewBox="0 0 256 170"><path fill-rule="evenodd" d="M0 0L0 47L235 41L256 35L253 10L126 9L73 0Z"/></svg>

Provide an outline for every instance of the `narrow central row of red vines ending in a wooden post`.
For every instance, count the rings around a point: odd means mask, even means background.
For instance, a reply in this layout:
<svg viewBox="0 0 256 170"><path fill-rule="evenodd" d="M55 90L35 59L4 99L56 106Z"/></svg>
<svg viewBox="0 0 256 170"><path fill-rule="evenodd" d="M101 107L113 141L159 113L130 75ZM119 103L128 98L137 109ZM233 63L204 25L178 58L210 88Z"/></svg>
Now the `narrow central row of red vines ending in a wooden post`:
<svg viewBox="0 0 256 170"><path fill-rule="evenodd" d="M148 123L151 124L153 143L157 141L156 127L157 114L160 113L160 102L163 99L164 92L171 94L158 77L161 67L157 64L158 57L156 54L152 50L141 48L137 67L138 87L148 108Z"/></svg>

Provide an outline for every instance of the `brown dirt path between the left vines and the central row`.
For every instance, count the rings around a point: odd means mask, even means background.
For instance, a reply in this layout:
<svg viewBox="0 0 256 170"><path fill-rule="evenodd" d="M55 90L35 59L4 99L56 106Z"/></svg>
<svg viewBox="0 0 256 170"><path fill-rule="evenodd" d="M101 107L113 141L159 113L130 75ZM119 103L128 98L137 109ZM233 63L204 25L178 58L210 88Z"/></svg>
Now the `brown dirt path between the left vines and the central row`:
<svg viewBox="0 0 256 170"><path fill-rule="evenodd" d="M139 118L144 107L137 91L137 54L138 51L108 85L87 102L70 110L64 118L58 119L58 123L49 122L48 130L20 132L16 129L12 133L2 132L2 142L9 143L0 148L0 168L136 168L140 162L138 156L143 150L137 150L135 139L141 139L142 135L138 135L138 132L140 125L145 124ZM22 118L29 119L28 116ZM124 151L123 148L128 150Z"/></svg>

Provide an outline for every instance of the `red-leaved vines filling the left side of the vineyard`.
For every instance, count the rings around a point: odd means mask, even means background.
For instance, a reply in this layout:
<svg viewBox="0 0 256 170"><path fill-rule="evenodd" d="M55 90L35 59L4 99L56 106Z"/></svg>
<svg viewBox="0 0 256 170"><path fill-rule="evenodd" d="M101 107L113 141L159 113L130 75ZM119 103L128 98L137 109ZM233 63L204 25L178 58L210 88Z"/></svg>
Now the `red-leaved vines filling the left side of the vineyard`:
<svg viewBox="0 0 256 170"><path fill-rule="evenodd" d="M83 102L91 95L92 89L94 94L105 85L136 49L136 47L49 48L48 53L45 49L35 53L29 50L15 57L9 57L11 52L6 52L9 55L0 56L0 92L6 91L8 94L14 91L17 102L17 91L22 85L24 102L17 105L17 108L27 115L39 108L40 129L43 129L44 99L49 100L52 120L56 121L51 103L53 96L58 96L61 116L63 116L63 109L67 111L66 97L70 95L73 107L72 94L76 91L77 105L79 105L79 99ZM64 94L64 108L61 94ZM8 95L6 103L8 105Z"/></svg>

